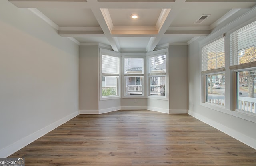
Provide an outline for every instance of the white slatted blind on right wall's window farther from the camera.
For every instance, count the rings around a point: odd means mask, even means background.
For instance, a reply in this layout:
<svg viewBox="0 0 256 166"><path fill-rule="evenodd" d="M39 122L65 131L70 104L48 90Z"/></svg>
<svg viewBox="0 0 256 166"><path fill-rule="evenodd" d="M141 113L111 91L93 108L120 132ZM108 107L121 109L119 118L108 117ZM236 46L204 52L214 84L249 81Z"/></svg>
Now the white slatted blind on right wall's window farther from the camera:
<svg viewBox="0 0 256 166"><path fill-rule="evenodd" d="M224 37L202 47L201 63L202 63L202 73L224 71L224 67L225 67Z"/></svg>

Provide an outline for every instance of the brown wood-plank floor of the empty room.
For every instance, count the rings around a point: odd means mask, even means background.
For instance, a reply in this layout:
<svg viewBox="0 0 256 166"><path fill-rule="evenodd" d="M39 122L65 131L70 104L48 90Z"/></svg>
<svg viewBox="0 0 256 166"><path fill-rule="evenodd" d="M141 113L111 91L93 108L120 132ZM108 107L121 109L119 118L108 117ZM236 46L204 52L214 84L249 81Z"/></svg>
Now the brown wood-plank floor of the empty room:
<svg viewBox="0 0 256 166"><path fill-rule="evenodd" d="M186 114L78 115L9 157L26 166L256 165L256 150Z"/></svg>

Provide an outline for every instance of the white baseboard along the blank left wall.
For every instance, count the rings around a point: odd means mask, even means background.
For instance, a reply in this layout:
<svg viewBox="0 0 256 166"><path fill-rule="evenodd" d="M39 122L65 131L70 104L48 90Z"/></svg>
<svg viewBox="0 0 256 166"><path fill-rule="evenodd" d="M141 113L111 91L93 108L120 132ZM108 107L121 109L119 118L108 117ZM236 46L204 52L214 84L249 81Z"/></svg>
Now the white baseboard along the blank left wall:
<svg viewBox="0 0 256 166"><path fill-rule="evenodd" d="M11 154L17 152L18 150L20 150L21 148L24 148L25 146L27 146L28 144L30 144L31 142L37 140L38 138L44 136L45 134L47 134L48 132L54 130L55 128L57 128L58 126L66 123L67 121L69 121L70 119L76 117L77 115L79 115L79 112L76 111L48 126L46 126L45 128L42 128L28 136L26 136L25 138L22 138L21 140L18 140L17 142L14 142L13 144L2 148L0 150L0 157L6 158L8 156L10 156Z"/></svg>

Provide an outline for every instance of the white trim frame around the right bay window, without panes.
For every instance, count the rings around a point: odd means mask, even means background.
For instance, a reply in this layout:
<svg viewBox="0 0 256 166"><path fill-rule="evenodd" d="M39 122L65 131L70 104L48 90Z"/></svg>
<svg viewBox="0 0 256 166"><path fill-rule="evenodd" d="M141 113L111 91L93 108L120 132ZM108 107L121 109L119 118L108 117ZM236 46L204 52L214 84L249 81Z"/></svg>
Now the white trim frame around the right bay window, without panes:
<svg viewBox="0 0 256 166"><path fill-rule="evenodd" d="M149 73L148 71L148 59L150 57L155 57L155 56L158 56L158 55L165 55L165 61L166 61L166 71L165 71L165 75L162 75L162 74L151 74ZM146 97L148 99L160 99L160 100L168 100L168 89L169 89L169 83L168 83L168 55L169 55L169 52L168 52L168 48L166 49L160 49L160 50L157 50L157 51L152 51L150 53L147 53L147 56L146 56L146 77L147 77L147 93L146 93ZM165 76L165 96L156 96L156 95L150 95L150 77L152 76Z"/></svg>

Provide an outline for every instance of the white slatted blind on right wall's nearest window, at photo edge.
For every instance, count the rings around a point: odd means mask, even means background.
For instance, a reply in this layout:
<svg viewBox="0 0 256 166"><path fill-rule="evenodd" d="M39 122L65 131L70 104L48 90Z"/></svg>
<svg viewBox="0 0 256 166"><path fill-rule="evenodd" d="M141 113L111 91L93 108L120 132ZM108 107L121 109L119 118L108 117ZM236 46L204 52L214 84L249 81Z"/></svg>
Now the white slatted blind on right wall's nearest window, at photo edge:
<svg viewBox="0 0 256 166"><path fill-rule="evenodd" d="M256 22L230 34L230 69L256 67Z"/></svg>

